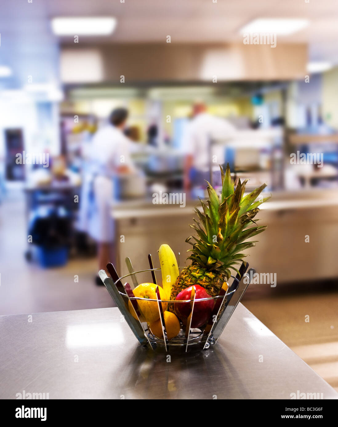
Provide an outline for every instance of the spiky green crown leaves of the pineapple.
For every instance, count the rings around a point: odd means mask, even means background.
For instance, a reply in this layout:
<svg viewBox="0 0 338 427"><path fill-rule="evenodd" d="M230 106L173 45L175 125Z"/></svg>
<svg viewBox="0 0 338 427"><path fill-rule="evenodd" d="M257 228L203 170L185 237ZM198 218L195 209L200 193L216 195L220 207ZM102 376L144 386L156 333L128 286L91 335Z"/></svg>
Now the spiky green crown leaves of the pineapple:
<svg viewBox="0 0 338 427"><path fill-rule="evenodd" d="M256 188L244 196L247 179L241 183L238 180L236 188L231 178L229 164L225 173L221 166L222 192L221 197L217 195L211 184L207 181L207 202L199 199L202 211L196 207L198 219L194 218L195 224L190 225L196 231L199 238L190 236L186 242L192 245L189 259L210 270L222 269L227 274L229 268L237 269L234 265L243 261L245 249L255 246L255 241L246 240L261 233L267 227L258 226L254 218L259 212L258 206L270 199L271 196L256 201L266 184ZM254 227L247 228L255 224ZM191 240L194 240L191 241ZM189 252L188 251L188 252Z"/></svg>

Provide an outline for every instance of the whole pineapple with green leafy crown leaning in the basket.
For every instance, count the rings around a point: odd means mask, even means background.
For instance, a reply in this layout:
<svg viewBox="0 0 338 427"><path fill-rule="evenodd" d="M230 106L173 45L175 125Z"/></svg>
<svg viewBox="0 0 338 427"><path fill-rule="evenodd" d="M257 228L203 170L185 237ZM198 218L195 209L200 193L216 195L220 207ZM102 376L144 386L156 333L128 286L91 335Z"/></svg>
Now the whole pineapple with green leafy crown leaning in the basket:
<svg viewBox="0 0 338 427"><path fill-rule="evenodd" d="M192 249L189 249L192 254L188 257L192 263L182 269L172 286L171 300L175 300L181 290L196 284L204 287L211 296L219 295L223 283L230 278L231 269L238 272L234 266L243 262L243 257L246 256L242 253L243 250L255 246L256 242L246 242L246 240L267 228L257 226L253 220L259 212L258 206L271 197L255 202L266 184L243 197L248 180L246 179L243 184L239 180L236 190L234 190L229 164L225 174L221 166L220 169L222 175L221 200L219 201L216 191L207 181L209 200L206 205L200 199L203 213L195 208L199 221L194 218L196 224L190 225L198 234L199 239L190 236L186 240L193 246ZM255 223L256 226L247 228L252 223ZM191 239L195 242L191 242Z"/></svg>

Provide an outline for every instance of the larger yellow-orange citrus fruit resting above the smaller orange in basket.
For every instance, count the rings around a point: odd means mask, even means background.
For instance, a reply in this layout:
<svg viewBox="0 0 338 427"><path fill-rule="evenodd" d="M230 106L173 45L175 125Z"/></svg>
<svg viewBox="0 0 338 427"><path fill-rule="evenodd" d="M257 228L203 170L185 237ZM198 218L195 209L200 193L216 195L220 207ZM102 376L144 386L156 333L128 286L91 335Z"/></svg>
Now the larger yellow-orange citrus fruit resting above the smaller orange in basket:
<svg viewBox="0 0 338 427"><path fill-rule="evenodd" d="M168 298L163 288L159 286L158 289L160 291L160 299L167 300ZM136 286L136 288L133 289L133 293L135 296L140 298L156 299L156 285L154 283L141 283L139 286ZM157 301L144 301L141 299L136 299L136 301L139 307L139 312L141 313L145 322L150 323L150 322L154 322L157 319L160 319L160 313L158 311ZM162 303L163 312L166 311L167 307L168 307L168 303L163 302ZM133 315L133 317L137 319L135 310L130 301L128 301L128 308L130 313Z"/></svg>

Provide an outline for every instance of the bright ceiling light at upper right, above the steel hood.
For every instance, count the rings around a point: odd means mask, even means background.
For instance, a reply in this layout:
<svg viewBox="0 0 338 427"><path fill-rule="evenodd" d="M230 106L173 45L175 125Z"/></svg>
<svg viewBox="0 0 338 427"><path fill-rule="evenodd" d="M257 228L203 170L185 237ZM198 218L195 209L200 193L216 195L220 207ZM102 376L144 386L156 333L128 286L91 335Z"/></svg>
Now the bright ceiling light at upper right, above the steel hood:
<svg viewBox="0 0 338 427"><path fill-rule="evenodd" d="M240 33L267 32L278 35L289 35L305 28L308 24L309 21L307 19L258 18L243 26Z"/></svg>

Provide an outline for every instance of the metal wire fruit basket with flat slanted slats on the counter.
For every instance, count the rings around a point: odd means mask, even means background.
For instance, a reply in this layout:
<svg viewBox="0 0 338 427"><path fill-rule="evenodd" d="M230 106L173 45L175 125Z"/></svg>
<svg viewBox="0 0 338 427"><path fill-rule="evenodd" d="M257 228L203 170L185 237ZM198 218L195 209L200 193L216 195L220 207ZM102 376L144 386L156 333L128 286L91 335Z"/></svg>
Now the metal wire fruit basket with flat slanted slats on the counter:
<svg viewBox="0 0 338 427"><path fill-rule="evenodd" d="M180 254L178 254L178 265L179 255ZM248 279L250 277L250 273L255 272L254 269L248 269L248 263L243 262L237 275L231 276L231 283L228 284L227 289L224 290L222 288L219 295L209 298L196 298L196 287L193 286L190 299L169 301L160 298L160 291L157 285L155 272L161 271L161 269L154 268L151 254L148 254L148 262L150 266L149 269L134 271L130 258L127 257L126 264L129 274L119 276L113 264L109 263L107 264L107 269L111 278L104 270L99 271L99 276L115 301L115 304L119 307L125 321L133 331L139 343L141 345L149 346L152 350L155 350L155 348L159 346L165 348L166 351L173 348L182 348L187 352L188 348L191 346L206 350L210 348L211 345L216 344L217 339L221 335L228 323L228 320L237 307L237 304L240 302L244 292L249 286ZM181 270L184 267L178 268ZM133 293L133 289L139 285L139 276L141 274L144 275L144 273L151 274L152 283L156 286L156 299L136 297ZM244 280L246 277L247 279ZM131 280L132 285L125 282L125 279L127 278L129 281ZM158 310L160 328L162 330L161 337L158 336L160 334L155 336L151 332L148 323L142 321L137 301L145 301L146 304L152 305L153 310ZM210 304L208 304L208 301ZM199 324L200 322L196 324L196 318L199 316L199 312L201 312L203 304L203 308L205 308L205 303L209 306L209 310L204 312L204 316L207 317L202 320L202 325ZM134 316L130 313L128 304L132 305ZM179 305L181 307L181 311L183 308L185 309L183 311L190 312L190 315L185 321L180 319L181 329L178 335L172 339L168 339L164 319L165 310L163 310L163 306L166 307L168 305L171 306L171 311L176 311L175 308Z"/></svg>

